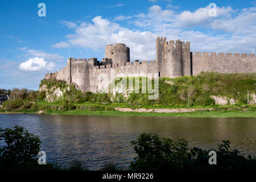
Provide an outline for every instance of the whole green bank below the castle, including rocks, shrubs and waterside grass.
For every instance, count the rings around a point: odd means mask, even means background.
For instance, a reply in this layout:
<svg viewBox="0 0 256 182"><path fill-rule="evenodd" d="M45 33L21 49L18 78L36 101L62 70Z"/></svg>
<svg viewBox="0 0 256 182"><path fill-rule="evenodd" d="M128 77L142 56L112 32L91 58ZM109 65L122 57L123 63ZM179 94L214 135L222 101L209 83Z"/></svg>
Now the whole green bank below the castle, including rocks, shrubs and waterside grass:
<svg viewBox="0 0 256 182"><path fill-rule="evenodd" d="M122 78L123 81L127 81ZM135 79L135 78L133 78ZM139 80L142 89L142 78ZM118 88L120 81L115 81ZM154 85L154 83L153 83ZM127 86L127 85L126 85ZM65 81L42 80L40 91L14 89L0 112L63 115L134 115L156 117L256 117L256 73L200 73L197 76L159 78L159 97L149 93L81 92ZM57 92L55 92L57 90ZM59 94L57 94L59 93ZM189 99L188 99L189 98ZM218 105L221 104L221 105ZM224 105L223 105L224 104ZM190 113L122 112L130 109L205 109ZM209 110L210 111L209 111Z"/></svg>

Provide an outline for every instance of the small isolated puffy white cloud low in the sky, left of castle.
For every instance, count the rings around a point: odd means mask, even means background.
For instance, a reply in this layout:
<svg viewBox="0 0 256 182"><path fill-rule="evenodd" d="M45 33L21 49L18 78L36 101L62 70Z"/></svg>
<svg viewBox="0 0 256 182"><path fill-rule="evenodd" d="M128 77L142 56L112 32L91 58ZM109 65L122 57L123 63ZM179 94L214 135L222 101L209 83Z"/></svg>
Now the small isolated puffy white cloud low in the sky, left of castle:
<svg viewBox="0 0 256 182"><path fill-rule="evenodd" d="M27 72L44 71L45 69L47 69L48 71L51 71L54 68L55 68L55 63L51 62L47 64L47 62L44 60L43 57L30 58L19 65L19 69L21 71L27 71Z"/></svg>

